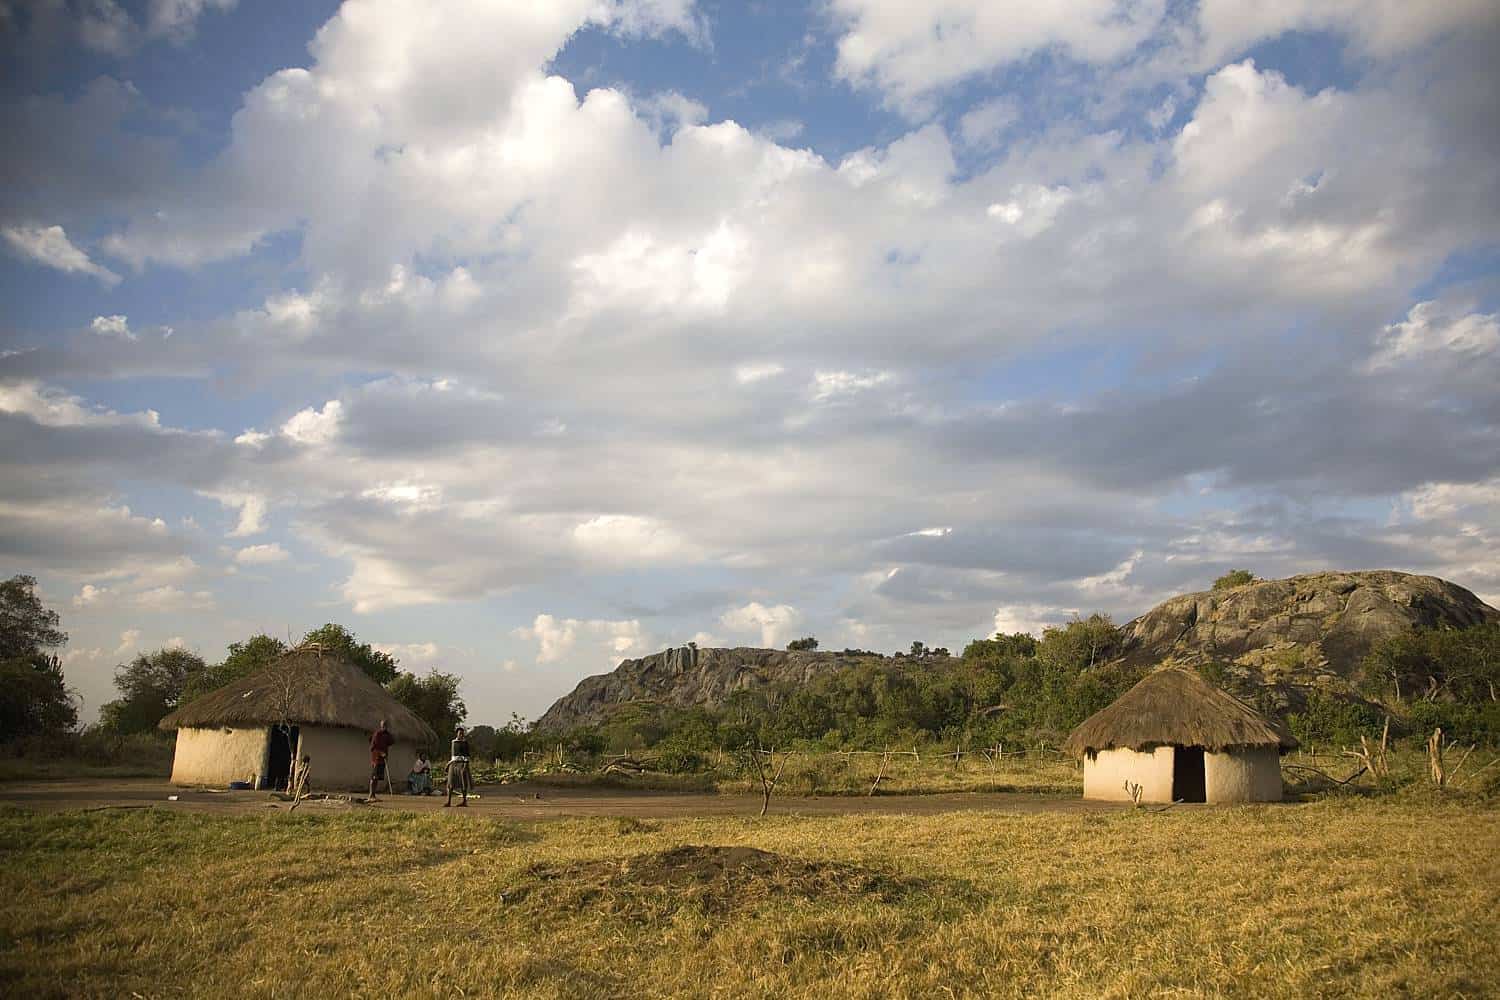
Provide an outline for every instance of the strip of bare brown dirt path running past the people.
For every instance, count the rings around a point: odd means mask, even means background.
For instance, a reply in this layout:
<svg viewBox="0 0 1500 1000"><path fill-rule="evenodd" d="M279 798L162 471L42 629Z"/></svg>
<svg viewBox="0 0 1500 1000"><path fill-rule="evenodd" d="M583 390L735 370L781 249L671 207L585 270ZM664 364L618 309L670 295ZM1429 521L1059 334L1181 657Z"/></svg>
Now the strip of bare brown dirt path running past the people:
<svg viewBox="0 0 1500 1000"><path fill-rule="evenodd" d="M172 802L168 796L177 796ZM177 789L152 778L90 778L78 781L30 781L0 784L0 805L26 810L58 811L99 807L148 807L192 813L264 813L272 799L264 792L200 792ZM279 804L286 808L286 804ZM326 810L316 801L304 810ZM350 807L342 807L350 808ZM374 805L356 808L429 813L442 810L442 796L380 796ZM800 816L842 816L864 813L951 813L986 810L994 813L1080 813L1118 810L1116 804L1084 802L1072 796L1024 795L1016 792L972 792L946 795L819 796L771 799L771 811ZM628 792L616 789L552 789L531 784L483 786L470 799L470 816L514 820L544 820L566 816L633 816L670 819L686 816L754 816L760 798L754 795L705 795L668 792ZM300 811L300 810L298 810ZM464 814L464 813L459 813Z"/></svg>

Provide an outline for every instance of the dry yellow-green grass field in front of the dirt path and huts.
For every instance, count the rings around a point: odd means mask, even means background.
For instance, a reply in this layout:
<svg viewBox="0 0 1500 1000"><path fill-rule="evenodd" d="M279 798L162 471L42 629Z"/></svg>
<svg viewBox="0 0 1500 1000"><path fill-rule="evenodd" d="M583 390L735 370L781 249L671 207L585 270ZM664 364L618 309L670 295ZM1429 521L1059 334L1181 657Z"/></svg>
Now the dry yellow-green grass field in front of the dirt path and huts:
<svg viewBox="0 0 1500 1000"><path fill-rule="evenodd" d="M1497 820L10 810L0 994L1492 996Z"/></svg>

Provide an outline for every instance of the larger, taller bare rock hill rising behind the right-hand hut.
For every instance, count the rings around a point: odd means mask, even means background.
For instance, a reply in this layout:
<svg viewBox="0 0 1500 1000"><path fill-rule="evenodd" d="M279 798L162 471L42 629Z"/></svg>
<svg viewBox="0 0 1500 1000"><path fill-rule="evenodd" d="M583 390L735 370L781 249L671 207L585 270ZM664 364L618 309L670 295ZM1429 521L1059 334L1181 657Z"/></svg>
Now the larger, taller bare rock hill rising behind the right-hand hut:
<svg viewBox="0 0 1500 1000"><path fill-rule="evenodd" d="M1485 622L1500 610L1436 576L1310 573L1164 601L1125 625L1125 660L1214 661L1238 687L1340 687L1384 636Z"/></svg>

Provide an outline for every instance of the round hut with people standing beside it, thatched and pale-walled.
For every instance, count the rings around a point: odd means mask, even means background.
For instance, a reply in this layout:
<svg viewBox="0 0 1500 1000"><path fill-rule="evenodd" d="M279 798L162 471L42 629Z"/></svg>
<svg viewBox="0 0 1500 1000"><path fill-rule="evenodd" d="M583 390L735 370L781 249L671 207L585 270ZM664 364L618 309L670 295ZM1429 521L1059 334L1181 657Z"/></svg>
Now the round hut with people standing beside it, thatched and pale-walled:
<svg viewBox="0 0 1500 1000"><path fill-rule="evenodd" d="M411 769L436 733L344 657L303 646L266 670L183 705L162 720L177 730L172 784L285 787L292 760L310 759L309 787L362 789L370 778L370 733L386 720L396 738L392 781Z"/></svg>

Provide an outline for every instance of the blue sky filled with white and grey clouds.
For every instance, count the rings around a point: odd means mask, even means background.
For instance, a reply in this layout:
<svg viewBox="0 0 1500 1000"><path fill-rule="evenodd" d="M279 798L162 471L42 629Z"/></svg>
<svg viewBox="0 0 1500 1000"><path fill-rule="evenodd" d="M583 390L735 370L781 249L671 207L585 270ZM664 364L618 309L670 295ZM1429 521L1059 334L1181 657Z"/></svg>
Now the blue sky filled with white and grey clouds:
<svg viewBox="0 0 1500 1000"><path fill-rule="evenodd" d="M0 0L0 573L536 718L1230 568L1500 604L1492 0Z"/></svg>

